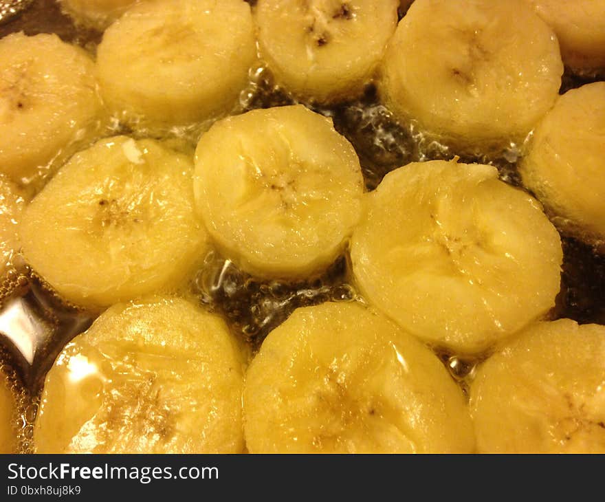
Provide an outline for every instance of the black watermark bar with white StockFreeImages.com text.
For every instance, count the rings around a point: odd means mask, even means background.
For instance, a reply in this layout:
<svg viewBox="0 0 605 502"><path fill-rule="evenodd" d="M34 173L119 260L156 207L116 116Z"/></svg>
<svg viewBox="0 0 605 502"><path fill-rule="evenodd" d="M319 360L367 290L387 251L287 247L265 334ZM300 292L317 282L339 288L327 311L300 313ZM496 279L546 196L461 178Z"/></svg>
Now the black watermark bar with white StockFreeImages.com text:
<svg viewBox="0 0 605 502"><path fill-rule="evenodd" d="M581 457L581 458L580 458ZM499 498L549 484L564 494L600 484L588 455L0 455L0 501L278 499L335 502L393 498ZM582 465L582 469L578 468ZM595 470L589 469L590 466ZM540 466L537 469L536 466ZM588 467L588 468L586 468ZM522 487L522 488L520 488ZM575 490L575 488L574 488ZM332 496L333 495L333 496ZM110 498L107 498L110 497ZM143 499L145 497L145 499ZM542 497L543 498L543 497Z"/></svg>

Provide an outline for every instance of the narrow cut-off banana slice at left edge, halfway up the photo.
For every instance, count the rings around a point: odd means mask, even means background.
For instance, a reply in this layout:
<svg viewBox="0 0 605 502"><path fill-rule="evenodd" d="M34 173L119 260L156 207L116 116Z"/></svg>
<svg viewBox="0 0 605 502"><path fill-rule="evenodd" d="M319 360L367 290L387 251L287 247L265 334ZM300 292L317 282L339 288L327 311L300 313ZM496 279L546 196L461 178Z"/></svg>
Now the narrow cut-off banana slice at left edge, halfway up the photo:
<svg viewBox="0 0 605 502"><path fill-rule="evenodd" d="M12 254L19 250L19 223L25 207L25 194L7 177L0 175L0 278Z"/></svg>

